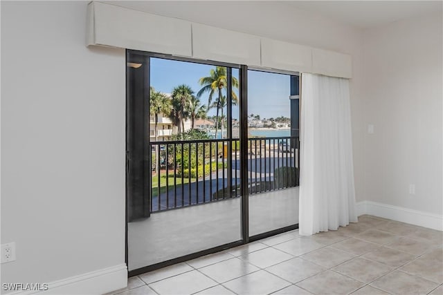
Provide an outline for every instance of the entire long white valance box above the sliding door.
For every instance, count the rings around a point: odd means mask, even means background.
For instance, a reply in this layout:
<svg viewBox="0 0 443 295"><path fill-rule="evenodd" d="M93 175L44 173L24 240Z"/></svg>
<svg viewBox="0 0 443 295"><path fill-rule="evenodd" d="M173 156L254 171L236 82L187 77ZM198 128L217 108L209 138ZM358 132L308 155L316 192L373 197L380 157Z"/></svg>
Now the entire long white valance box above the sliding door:
<svg viewBox="0 0 443 295"><path fill-rule="evenodd" d="M231 64L352 78L352 57L92 1L87 46L111 46ZM302 30L302 28L300 28Z"/></svg>

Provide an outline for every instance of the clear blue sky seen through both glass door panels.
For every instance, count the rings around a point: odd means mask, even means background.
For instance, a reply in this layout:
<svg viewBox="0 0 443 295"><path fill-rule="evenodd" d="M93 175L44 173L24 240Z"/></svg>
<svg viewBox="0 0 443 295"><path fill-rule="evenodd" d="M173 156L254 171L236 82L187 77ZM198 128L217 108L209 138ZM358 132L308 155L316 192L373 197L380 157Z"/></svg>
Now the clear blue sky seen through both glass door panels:
<svg viewBox="0 0 443 295"><path fill-rule="evenodd" d="M189 85L195 93L201 89L199 79L209 75L213 66L194 64L169 59L151 59L151 86L156 91L171 93L179 84ZM233 69L233 76L238 79L239 70ZM262 118L289 117L289 75L264 73L255 70L248 72L248 114L260 115ZM238 90L235 90L238 93ZM202 104L208 104L208 95L202 95ZM215 115L211 109L208 115ZM233 106L233 117L238 118L239 110Z"/></svg>

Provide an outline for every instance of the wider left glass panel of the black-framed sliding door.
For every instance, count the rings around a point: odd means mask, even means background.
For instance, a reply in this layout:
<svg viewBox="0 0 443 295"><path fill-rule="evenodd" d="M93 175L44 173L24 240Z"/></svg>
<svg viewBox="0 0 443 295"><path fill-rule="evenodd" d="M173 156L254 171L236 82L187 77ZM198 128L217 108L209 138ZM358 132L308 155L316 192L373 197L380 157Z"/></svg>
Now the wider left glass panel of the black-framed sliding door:
<svg viewBox="0 0 443 295"><path fill-rule="evenodd" d="M136 68L137 58L129 55L128 83L144 95L129 111L140 115L149 99L145 136L133 139L145 146L147 172L136 182L144 199L128 194L128 211L145 208L128 214L129 271L242 240L238 68L149 56Z"/></svg>

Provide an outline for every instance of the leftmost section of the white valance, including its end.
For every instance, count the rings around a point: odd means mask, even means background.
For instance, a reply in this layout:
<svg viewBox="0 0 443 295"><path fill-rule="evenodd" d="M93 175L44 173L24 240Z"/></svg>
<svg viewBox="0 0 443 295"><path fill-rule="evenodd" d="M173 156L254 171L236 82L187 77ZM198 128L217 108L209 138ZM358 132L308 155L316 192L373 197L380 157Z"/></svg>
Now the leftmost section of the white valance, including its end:
<svg viewBox="0 0 443 295"><path fill-rule="evenodd" d="M91 2L87 45L192 56L191 23L172 17Z"/></svg>

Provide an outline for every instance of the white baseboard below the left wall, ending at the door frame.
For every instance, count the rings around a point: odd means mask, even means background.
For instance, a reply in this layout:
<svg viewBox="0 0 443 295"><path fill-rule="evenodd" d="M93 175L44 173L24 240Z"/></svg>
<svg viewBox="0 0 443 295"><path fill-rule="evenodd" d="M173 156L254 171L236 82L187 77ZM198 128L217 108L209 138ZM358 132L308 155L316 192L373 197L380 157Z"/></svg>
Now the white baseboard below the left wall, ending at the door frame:
<svg viewBox="0 0 443 295"><path fill-rule="evenodd" d="M125 287L127 287L127 267L122 264L56 280L48 283L46 291L12 294L105 294Z"/></svg>

